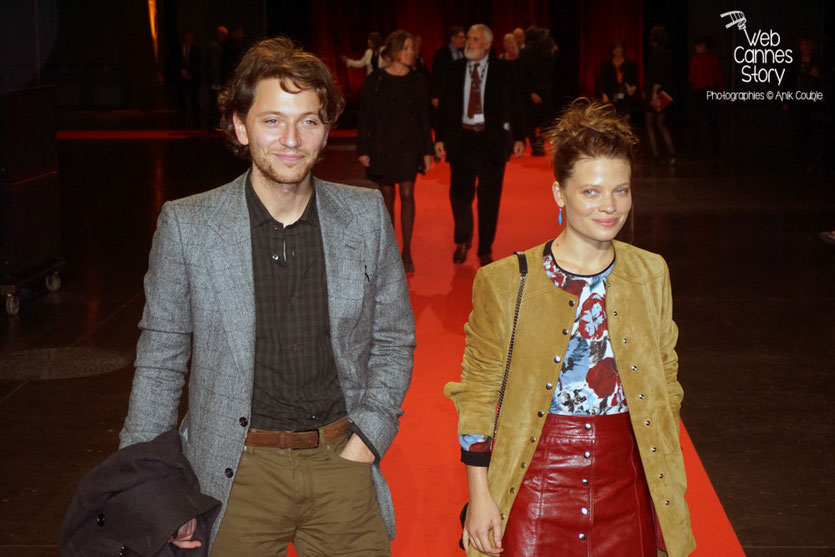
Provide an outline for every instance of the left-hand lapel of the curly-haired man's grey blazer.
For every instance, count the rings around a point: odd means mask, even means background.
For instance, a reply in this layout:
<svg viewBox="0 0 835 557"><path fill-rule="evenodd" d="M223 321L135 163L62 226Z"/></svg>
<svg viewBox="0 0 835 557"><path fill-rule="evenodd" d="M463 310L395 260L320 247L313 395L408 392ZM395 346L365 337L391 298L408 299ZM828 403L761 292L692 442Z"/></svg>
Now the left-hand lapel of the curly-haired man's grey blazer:
<svg viewBox="0 0 835 557"><path fill-rule="evenodd" d="M248 174L248 173L247 173ZM208 220L216 232L207 249L223 327L241 374L252 375L255 362L255 286L252 278L252 239L246 206L246 176L235 180Z"/></svg>

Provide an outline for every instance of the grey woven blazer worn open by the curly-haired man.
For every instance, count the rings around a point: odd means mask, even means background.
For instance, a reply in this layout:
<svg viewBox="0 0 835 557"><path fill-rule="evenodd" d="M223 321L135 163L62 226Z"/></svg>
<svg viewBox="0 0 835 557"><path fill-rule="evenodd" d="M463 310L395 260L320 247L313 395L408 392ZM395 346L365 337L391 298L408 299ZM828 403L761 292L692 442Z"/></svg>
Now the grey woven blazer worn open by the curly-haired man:
<svg viewBox="0 0 835 557"><path fill-rule="evenodd" d="M136 373L120 446L173 429L191 358L183 450L203 493L226 510L250 420L255 354L246 174L168 202L157 223ZM348 418L382 457L397 433L412 374L414 316L379 192L314 178L328 280L331 342ZM394 539L391 493L372 467Z"/></svg>

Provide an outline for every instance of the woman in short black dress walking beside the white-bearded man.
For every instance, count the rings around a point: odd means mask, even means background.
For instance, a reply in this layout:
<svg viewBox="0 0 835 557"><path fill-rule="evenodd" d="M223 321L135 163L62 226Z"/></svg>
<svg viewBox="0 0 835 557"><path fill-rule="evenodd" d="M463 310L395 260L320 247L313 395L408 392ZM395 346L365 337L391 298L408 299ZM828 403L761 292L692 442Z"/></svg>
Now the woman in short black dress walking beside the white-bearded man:
<svg viewBox="0 0 835 557"><path fill-rule="evenodd" d="M385 68L368 76L360 104L357 152L368 178L377 183L394 224L395 184L400 185L400 220L403 227L403 267L412 262L415 223L415 178L432 164L434 146L429 130L426 80L411 69L416 56L414 39L395 31L386 39Z"/></svg>

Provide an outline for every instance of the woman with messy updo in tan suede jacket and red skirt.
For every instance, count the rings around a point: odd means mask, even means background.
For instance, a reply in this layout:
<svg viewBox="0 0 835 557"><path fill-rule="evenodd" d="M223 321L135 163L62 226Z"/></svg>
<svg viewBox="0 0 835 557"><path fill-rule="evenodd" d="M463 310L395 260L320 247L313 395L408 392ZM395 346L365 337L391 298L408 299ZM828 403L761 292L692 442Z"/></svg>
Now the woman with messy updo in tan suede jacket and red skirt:
<svg viewBox="0 0 835 557"><path fill-rule="evenodd" d="M461 380L444 389L467 465L462 543L472 556L688 555L669 272L615 240L637 138L587 99L547 138L565 228L478 271Z"/></svg>

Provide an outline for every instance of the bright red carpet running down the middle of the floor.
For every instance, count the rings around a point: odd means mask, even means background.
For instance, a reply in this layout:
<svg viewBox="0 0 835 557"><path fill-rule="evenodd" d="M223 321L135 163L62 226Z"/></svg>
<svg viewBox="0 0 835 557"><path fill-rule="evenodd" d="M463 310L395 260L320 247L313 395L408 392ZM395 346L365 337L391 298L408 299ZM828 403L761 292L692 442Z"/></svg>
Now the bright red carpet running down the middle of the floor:
<svg viewBox="0 0 835 557"><path fill-rule="evenodd" d="M463 555L456 544L458 512L467 499L464 465L458 461L455 408L441 391L460 374L463 325L471 309L471 285L478 262L471 252L464 265L456 268L452 264L448 180L448 165L439 164L421 177L416 187L413 252L417 272L409 282L418 347L400 434L383 460L397 512L397 539L392 546L395 557ZM496 258L556 235L552 182L545 158L526 155L508 165L494 246ZM686 366L684 370L686 373ZM681 439L698 544L694 555L744 556L683 427Z"/></svg>

